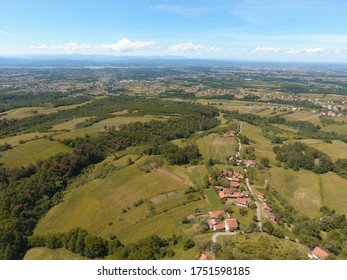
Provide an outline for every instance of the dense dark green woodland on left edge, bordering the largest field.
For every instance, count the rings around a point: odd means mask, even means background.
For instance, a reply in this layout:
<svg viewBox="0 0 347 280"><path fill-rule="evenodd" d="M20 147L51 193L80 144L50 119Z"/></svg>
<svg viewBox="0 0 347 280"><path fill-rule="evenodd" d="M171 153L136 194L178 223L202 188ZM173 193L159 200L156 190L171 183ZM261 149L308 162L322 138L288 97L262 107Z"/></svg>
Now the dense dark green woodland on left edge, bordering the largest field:
<svg viewBox="0 0 347 280"><path fill-rule="evenodd" d="M59 203L68 181L103 159L90 145L76 147L37 165L0 168L0 259L21 259L38 220Z"/></svg>

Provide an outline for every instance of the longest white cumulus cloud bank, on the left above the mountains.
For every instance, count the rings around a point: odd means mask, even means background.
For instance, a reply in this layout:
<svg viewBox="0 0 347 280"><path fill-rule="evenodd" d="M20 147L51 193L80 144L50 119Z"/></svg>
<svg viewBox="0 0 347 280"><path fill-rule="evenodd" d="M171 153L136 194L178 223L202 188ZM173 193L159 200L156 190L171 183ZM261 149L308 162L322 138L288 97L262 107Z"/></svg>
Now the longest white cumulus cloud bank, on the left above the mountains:
<svg viewBox="0 0 347 280"><path fill-rule="evenodd" d="M156 42L154 41L129 41L127 38L121 39L114 44L78 44L68 43L64 45L31 45L30 50L48 54L122 54L138 51L141 49L152 48Z"/></svg>

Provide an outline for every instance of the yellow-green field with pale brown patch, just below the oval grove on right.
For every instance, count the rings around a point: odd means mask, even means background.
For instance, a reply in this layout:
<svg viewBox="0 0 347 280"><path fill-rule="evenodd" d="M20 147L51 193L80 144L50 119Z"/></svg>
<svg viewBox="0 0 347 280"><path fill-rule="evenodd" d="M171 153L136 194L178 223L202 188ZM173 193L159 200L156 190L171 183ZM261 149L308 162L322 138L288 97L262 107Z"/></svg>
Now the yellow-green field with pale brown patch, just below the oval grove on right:
<svg viewBox="0 0 347 280"><path fill-rule="evenodd" d="M270 186L287 199L299 213L309 217L319 215L319 209L323 205L319 175L308 170L294 171L273 167Z"/></svg>

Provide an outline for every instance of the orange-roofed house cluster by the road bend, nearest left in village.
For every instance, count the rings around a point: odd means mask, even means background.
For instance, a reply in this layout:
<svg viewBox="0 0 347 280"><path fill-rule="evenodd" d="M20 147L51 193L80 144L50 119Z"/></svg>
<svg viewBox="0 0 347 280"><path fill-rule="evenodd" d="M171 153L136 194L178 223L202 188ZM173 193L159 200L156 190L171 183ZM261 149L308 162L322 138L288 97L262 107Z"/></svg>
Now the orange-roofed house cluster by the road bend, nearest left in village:
<svg viewBox="0 0 347 280"><path fill-rule="evenodd" d="M223 210L208 212L210 219L207 221L211 230L214 231L233 231L239 228L238 221L232 218L229 213Z"/></svg>

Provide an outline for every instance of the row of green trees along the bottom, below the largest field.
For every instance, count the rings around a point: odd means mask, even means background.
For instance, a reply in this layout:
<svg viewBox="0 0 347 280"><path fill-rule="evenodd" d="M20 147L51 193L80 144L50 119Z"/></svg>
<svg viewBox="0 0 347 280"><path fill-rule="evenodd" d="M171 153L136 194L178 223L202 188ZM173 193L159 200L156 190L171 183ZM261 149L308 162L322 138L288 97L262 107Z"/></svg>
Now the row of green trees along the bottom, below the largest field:
<svg viewBox="0 0 347 280"><path fill-rule="evenodd" d="M165 257L172 257L175 255L175 252L171 248L179 243L186 250L195 246L192 240L183 240L182 237L176 235L172 235L168 239L150 235L126 246L114 235L104 239L91 235L81 228L74 228L69 232L46 236L34 235L29 238L30 248L65 248L90 259L115 260L159 260Z"/></svg>

